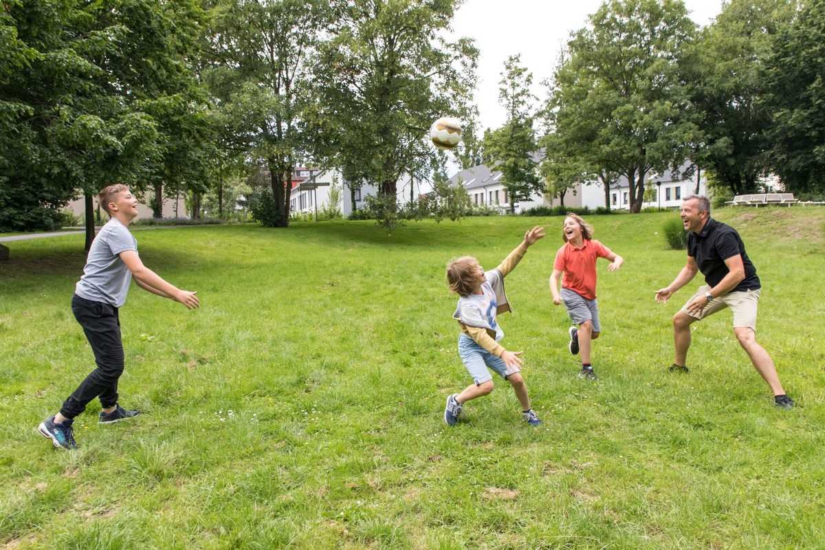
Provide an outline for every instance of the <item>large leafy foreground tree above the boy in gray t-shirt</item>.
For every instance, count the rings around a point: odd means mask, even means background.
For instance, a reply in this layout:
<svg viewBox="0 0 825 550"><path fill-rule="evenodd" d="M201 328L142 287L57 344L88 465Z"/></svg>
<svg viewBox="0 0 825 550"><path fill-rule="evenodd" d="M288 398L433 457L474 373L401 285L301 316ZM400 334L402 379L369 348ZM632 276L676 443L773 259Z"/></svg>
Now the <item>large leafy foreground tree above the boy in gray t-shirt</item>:
<svg viewBox="0 0 825 550"><path fill-rule="evenodd" d="M26 45L25 62L19 55L0 61L19 69L0 71L0 98L14 106L3 110L10 113L0 153L4 193L41 209L82 193L88 248L92 195L111 183L144 189L175 135L163 112L191 110L185 35L195 26L196 3L31 0L4 7L14 29L4 26L4 40Z"/></svg>

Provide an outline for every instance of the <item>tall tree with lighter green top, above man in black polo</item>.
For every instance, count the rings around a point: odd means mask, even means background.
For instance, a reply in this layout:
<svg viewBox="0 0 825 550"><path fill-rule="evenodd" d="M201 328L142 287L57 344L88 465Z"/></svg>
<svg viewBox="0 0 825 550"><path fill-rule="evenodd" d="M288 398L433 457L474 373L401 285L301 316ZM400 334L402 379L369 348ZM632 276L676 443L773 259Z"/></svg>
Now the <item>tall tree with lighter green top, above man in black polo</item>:
<svg viewBox="0 0 825 550"><path fill-rule="evenodd" d="M703 142L695 161L714 172L733 195L757 190L768 165L764 63L773 37L794 17L794 0L733 0L700 34L695 61L686 66L695 82L691 101Z"/></svg>

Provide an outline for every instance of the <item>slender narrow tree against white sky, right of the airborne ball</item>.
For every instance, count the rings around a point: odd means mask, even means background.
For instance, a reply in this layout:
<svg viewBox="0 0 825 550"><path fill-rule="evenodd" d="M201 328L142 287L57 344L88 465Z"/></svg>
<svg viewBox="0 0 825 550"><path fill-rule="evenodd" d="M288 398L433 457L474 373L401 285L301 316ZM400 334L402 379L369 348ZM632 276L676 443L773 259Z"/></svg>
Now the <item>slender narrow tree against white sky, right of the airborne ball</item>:
<svg viewBox="0 0 825 550"><path fill-rule="evenodd" d="M533 75L520 67L520 62L521 56L512 55L504 63L498 98L507 109L507 121L484 137L484 153L489 155L490 166L502 172L499 181L507 191L511 213L520 200L530 200L531 195L543 190L535 160L531 105L535 97L530 93Z"/></svg>

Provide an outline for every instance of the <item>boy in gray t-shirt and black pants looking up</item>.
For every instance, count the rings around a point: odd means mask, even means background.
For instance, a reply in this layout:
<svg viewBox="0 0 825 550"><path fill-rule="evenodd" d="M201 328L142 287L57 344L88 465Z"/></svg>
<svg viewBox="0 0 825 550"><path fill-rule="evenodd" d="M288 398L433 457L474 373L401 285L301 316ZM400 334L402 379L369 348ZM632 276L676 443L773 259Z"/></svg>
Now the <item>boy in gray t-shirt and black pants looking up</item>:
<svg viewBox="0 0 825 550"><path fill-rule="evenodd" d="M195 292L177 289L140 261L138 242L126 226L138 215L138 200L127 186L108 186L97 195L98 204L111 219L101 228L72 297L72 313L86 334L97 369L66 399L60 412L40 422L37 429L55 447L77 449L72 424L95 397L101 400L101 424L133 418L139 411L118 405L117 381L124 369L118 309L126 301L130 280L152 294L173 299L186 308L200 307Z"/></svg>

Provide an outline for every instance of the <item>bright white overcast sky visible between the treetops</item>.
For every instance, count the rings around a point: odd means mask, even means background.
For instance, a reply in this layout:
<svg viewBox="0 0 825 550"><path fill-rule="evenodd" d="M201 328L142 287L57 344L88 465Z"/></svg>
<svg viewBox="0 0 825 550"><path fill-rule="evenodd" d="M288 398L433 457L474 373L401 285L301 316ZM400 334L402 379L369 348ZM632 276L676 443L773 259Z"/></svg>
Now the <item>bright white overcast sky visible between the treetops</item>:
<svg viewBox="0 0 825 550"><path fill-rule="evenodd" d="M722 9L722 0L683 1L691 19L702 26ZM521 66L533 73L532 91L543 101L547 88L541 82L552 76L561 46L600 5L601 0L466 0L453 29L455 36L473 38L481 52L475 99L482 131L506 120L498 105L498 81L507 58L521 54Z"/></svg>

